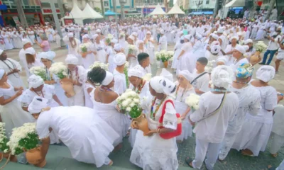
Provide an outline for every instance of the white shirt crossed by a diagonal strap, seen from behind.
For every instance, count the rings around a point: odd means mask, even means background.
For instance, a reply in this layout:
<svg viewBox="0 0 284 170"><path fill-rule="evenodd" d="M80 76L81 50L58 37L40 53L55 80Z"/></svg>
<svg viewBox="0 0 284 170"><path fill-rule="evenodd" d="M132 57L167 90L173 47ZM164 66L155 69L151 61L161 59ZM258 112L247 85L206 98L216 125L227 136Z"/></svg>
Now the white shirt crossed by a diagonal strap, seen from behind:
<svg viewBox="0 0 284 170"><path fill-rule="evenodd" d="M224 139L228 123L233 120L239 107L238 96L234 93L226 94L222 108L206 118L220 106L223 96L224 94L213 94L211 91L200 96L200 108L190 115L190 120L193 122L200 121L193 130L198 140L220 143Z"/></svg>

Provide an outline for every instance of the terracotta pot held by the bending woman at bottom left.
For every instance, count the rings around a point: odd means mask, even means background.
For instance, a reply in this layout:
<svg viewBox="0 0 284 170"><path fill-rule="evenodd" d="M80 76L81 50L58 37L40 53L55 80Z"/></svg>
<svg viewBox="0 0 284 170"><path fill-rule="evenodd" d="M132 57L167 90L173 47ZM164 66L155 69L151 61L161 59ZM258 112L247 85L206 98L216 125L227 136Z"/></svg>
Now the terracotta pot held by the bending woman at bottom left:
<svg viewBox="0 0 284 170"><path fill-rule="evenodd" d="M33 164L34 166L38 166L42 168L46 164L46 160L40 161L42 159L41 155L41 147L35 147L33 149L29 149L26 152L26 159L29 164Z"/></svg>

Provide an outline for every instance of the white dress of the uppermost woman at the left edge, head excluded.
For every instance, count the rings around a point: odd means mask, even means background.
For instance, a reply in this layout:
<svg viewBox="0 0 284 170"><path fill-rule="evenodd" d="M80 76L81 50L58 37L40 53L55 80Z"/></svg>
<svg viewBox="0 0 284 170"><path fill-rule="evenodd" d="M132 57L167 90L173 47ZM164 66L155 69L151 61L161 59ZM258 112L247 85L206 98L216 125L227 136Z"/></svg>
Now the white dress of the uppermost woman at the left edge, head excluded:
<svg viewBox="0 0 284 170"><path fill-rule="evenodd" d="M21 64L16 62L15 60L11 58L7 58L7 60L1 60L0 61L0 69L4 69L6 73L11 72L12 69L18 69L21 72ZM12 86L22 86L24 89L26 89L26 86L23 84L23 80L20 77L20 74L13 73L8 76L8 79L11 81Z"/></svg>

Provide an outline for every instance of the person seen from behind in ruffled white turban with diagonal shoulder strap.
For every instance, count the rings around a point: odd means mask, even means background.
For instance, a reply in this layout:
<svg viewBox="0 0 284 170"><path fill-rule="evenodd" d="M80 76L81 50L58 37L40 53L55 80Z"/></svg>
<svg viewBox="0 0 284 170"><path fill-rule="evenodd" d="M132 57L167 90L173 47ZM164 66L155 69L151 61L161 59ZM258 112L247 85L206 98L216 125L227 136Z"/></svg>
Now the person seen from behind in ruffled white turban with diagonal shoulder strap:
<svg viewBox="0 0 284 170"><path fill-rule="evenodd" d="M207 169L214 168L229 121L233 120L239 106L238 96L228 91L232 75L230 67L214 68L211 74L214 88L200 96L199 109L190 115L190 123L196 124L193 130L196 135L195 159L185 161L192 168L200 169L205 156Z"/></svg>

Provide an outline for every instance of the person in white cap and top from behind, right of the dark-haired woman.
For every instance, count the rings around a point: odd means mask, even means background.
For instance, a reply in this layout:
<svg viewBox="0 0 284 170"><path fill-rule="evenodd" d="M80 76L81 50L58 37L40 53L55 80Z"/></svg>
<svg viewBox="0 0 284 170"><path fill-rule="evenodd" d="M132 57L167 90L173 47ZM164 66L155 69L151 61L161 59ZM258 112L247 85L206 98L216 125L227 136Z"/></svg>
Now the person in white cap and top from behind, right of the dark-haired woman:
<svg viewBox="0 0 284 170"><path fill-rule="evenodd" d="M124 74L125 62L126 56L123 53L114 56L114 64L116 64L116 69L114 69L114 91L117 94L123 94L128 88L126 84L128 77Z"/></svg>

